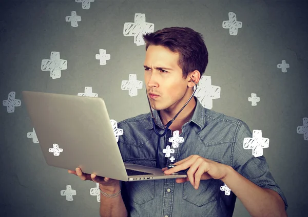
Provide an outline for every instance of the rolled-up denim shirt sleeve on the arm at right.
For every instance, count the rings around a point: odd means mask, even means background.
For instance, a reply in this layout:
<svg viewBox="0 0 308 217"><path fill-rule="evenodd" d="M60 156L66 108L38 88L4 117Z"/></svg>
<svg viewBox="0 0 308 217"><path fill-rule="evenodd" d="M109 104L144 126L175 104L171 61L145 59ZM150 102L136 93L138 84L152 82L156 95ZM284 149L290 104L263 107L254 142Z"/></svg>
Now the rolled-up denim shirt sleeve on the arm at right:
<svg viewBox="0 0 308 217"><path fill-rule="evenodd" d="M288 207L286 198L269 171L265 157L263 155L255 157L253 155L253 149L244 149L243 144L245 138L252 138L252 132L245 122L240 121L235 132L234 147L232 148L232 167L256 185L262 188L272 189L279 193L286 210Z"/></svg>

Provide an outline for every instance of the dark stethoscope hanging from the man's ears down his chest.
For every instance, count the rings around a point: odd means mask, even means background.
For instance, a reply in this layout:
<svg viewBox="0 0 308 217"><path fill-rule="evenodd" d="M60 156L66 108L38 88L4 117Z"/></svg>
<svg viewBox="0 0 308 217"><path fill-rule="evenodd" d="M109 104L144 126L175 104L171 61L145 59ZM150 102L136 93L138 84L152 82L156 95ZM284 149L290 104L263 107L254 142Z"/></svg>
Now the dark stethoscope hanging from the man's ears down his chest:
<svg viewBox="0 0 308 217"><path fill-rule="evenodd" d="M148 98L148 95L146 93L146 96L147 96L147 99L148 99L148 103L149 103L149 106L150 106L150 112L151 112L151 116L152 116L152 123L153 123L153 128L154 128L154 132L155 134L158 136L158 142L157 142L157 151L156 151L156 167L159 166L159 147L160 147L160 138L165 136L166 133L168 132L168 129L169 129L169 126L172 124L172 122L178 117L178 115L180 114L180 112L183 110L183 108L188 104L188 102L190 101L190 99L192 98L192 96L194 96L198 86L197 86L197 83L195 81L193 81L192 79L190 79L190 81L192 81L195 86L194 86L194 92L191 94L190 98L188 99L188 101L183 105L183 107L180 109L180 111L175 115L174 118L172 118L167 124L164 125L165 128L165 131L163 134L160 134L157 132L157 129L156 129L156 122L155 122L155 119L154 119L154 116L153 116L153 112L152 112L152 107L151 107L151 104L150 104L150 100ZM146 89L145 89L146 90ZM147 92L147 91L146 91ZM169 167L168 167L169 168Z"/></svg>

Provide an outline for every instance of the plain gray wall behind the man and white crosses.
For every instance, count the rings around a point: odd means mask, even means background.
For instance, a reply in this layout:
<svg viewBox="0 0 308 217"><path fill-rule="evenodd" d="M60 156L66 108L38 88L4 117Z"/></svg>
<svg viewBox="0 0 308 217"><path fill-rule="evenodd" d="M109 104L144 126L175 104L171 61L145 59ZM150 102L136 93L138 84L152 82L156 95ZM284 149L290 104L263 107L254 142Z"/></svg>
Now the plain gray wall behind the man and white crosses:
<svg viewBox="0 0 308 217"><path fill-rule="evenodd" d="M77 95L91 86L105 99L110 119L148 113L144 82L137 96L121 90L129 74L144 80L145 46L123 35L124 23L144 13L154 31L180 26L204 35L204 75L221 87L211 109L245 121L251 131L262 130L269 138L263 155L287 198L288 216L305 216L308 141L297 127L308 117L307 8L303 1L95 0L89 9L74 0L1 1L0 99L15 92L21 105L0 111L0 215L99 216L97 197L90 195L95 183L48 166L40 145L27 138L32 125L22 91ZM71 11L82 18L78 27L65 21ZM229 12L242 22L237 35L222 28ZM99 49L110 54L106 65L95 59ZM41 70L52 51L67 60L57 79ZM290 65L286 73L277 68L282 60ZM260 97L256 106L248 101L251 93ZM76 190L73 201L60 194L66 185ZM249 216L239 200L234 216Z"/></svg>

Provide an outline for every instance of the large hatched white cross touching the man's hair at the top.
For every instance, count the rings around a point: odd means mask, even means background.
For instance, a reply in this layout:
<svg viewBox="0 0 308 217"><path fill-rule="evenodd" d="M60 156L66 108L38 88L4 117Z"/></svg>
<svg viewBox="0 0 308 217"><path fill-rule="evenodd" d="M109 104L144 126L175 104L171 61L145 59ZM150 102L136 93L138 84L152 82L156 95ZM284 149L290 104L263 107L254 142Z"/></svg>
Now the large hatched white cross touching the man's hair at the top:
<svg viewBox="0 0 308 217"><path fill-rule="evenodd" d="M142 34L154 32L154 24L146 23L145 14L136 13L134 23L125 23L123 28L124 36L133 36L133 42L137 46L145 45Z"/></svg>

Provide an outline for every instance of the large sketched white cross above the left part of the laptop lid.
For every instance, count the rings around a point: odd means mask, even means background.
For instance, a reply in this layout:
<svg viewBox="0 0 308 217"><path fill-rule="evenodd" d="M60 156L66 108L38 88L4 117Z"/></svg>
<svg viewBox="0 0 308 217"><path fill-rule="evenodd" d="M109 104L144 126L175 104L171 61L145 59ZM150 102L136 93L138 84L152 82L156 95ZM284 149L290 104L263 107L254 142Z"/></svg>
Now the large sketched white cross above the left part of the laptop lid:
<svg viewBox="0 0 308 217"><path fill-rule="evenodd" d="M60 59L60 52L52 51L50 59L43 59L41 64L42 71L50 71L52 79L61 77L61 70L66 70L67 60Z"/></svg>

